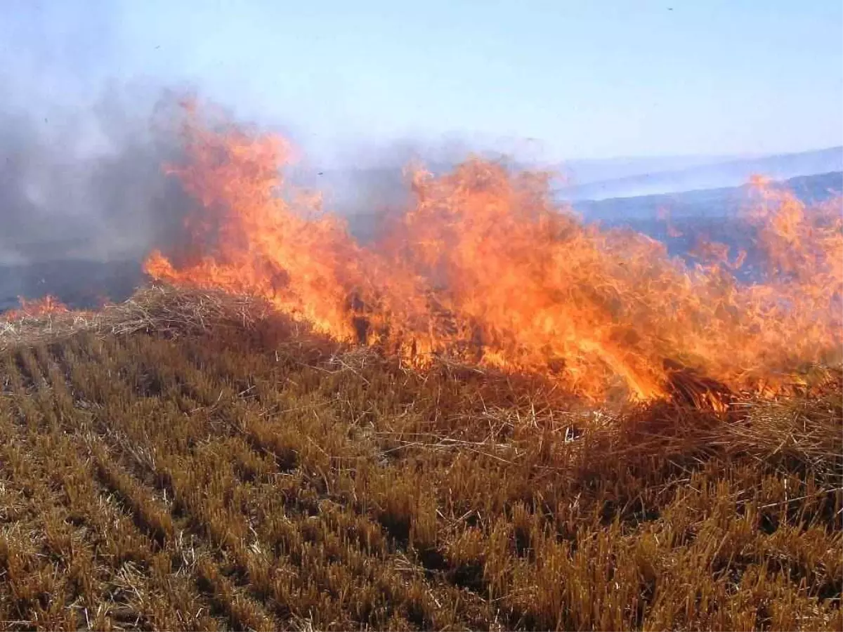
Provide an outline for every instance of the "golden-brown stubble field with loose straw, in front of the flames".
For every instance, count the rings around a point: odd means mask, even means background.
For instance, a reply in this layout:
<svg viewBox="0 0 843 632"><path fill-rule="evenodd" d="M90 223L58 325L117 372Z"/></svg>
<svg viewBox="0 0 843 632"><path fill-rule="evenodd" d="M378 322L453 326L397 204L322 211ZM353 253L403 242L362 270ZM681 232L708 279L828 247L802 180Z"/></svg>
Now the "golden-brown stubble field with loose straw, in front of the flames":
<svg viewBox="0 0 843 632"><path fill-rule="evenodd" d="M4 629L840 629L843 401L622 414L151 290L0 334Z"/></svg>

